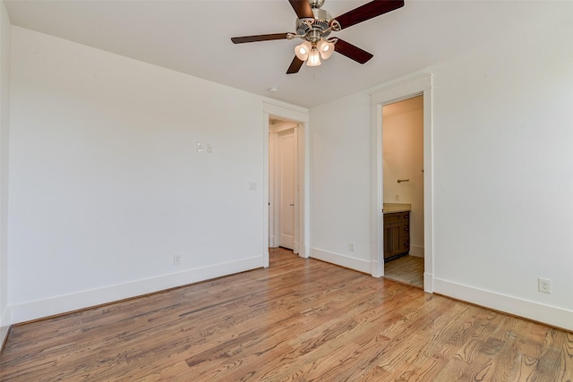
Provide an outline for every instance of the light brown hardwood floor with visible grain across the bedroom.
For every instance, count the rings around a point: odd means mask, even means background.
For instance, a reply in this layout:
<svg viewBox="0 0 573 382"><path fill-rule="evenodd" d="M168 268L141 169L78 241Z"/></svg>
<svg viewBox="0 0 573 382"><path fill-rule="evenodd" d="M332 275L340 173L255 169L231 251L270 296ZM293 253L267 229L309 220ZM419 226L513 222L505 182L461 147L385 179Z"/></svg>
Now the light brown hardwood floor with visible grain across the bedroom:
<svg viewBox="0 0 573 382"><path fill-rule="evenodd" d="M2 381L571 381L573 334L272 250L270 267L13 327Z"/></svg>

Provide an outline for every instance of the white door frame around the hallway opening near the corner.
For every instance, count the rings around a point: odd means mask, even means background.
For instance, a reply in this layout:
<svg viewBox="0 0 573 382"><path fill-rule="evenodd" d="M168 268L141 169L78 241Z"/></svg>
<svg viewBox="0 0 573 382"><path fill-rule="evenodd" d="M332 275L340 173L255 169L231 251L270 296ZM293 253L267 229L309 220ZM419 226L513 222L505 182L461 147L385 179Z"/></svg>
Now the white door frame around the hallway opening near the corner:
<svg viewBox="0 0 573 382"><path fill-rule="evenodd" d="M275 116L298 123L297 128L297 184L298 203L295 209L295 221L298 221L298 256L308 258L309 242L309 163L308 142L310 116L304 108L289 108L263 102L263 216L262 216L262 266L269 267L269 117ZM295 201L296 203L296 201Z"/></svg>

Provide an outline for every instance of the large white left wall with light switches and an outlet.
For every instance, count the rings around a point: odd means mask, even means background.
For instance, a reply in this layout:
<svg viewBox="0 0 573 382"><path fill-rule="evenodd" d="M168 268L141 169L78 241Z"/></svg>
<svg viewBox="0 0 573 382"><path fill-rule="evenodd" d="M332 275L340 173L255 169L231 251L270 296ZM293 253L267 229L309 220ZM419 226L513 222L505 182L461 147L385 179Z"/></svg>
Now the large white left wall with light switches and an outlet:
<svg viewBox="0 0 573 382"><path fill-rule="evenodd" d="M12 32L13 322L263 265L263 98Z"/></svg>

